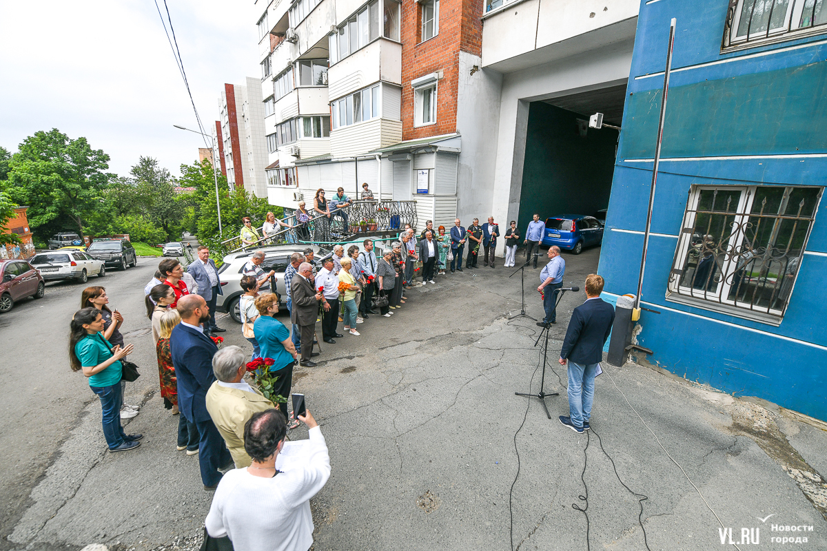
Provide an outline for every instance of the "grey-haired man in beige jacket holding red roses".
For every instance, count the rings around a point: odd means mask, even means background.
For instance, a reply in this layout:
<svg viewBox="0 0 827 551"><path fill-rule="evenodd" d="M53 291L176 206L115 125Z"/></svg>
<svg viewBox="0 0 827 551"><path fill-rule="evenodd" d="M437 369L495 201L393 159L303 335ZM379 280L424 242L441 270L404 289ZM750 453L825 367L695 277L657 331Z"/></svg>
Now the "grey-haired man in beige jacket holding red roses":
<svg viewBox="0 0 827 551"><path fill-rule="evenodd" d="M249 467L244 450L244 425L257 411L275 407L257 388L244 381L247 354L238 346L227 346L213 356L218 379L207 391L207 411L230 450L236 468Z"/></svg>

